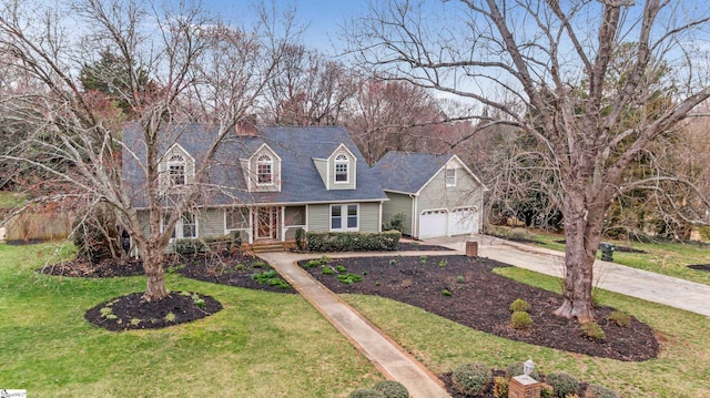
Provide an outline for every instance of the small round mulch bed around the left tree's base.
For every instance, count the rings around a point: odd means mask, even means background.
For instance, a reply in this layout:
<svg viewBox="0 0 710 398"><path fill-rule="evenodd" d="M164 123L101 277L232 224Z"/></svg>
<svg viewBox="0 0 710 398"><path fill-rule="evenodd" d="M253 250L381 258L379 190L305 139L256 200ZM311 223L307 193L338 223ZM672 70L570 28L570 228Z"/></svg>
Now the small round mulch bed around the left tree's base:
<svg viewBox="0 0 710 398"><path fill-rule="evenodd" d="M84 318L111 331L159 329L202 319L221 309L220 302L193 292L172 292L160 302L146 302L142 293L132 293L99 304Z"/></svg>

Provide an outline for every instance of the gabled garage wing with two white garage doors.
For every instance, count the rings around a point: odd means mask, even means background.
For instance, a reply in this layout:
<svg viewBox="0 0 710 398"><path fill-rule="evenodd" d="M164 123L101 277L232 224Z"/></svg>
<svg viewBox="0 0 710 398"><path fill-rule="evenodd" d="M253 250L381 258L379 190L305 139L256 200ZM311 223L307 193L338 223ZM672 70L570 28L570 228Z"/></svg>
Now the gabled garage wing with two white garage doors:
<svg viewBox="0 0 710 398"><path fill-rule="evenodd" d="M373 167L388 202L383 220L404 216L404 234L418 239L478 233L484 192L456 155L389 152Z"/></svg>

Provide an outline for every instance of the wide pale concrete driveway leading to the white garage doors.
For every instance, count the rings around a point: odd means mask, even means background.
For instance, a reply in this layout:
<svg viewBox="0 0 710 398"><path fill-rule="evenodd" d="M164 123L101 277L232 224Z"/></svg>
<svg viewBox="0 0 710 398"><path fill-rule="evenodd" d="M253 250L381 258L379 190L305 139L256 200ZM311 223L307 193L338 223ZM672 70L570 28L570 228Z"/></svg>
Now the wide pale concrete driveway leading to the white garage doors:
<svg viewBox="0 0 710 398"><path fill-rule="evenodd" d="M478 254L481 257L540 274L564 276L564 253L487 235L475 235L470 239L478 242ZM466 237L437 238L428 241L427 244L437 244L463 252ZM602 261L595 263L594 274L595 286L599 288L710 317L708 305L710 286L708 285Z"/></svg>

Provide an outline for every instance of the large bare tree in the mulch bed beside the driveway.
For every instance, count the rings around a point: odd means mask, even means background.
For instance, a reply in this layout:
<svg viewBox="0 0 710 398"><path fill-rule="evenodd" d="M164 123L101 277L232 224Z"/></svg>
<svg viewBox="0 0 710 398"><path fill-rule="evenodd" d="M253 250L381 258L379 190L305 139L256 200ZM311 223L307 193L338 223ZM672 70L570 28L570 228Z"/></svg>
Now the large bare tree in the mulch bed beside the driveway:
<svg viewBox="0 0 710 398"><path fill-rule="evenodd" d="M556 314L585 323L594 319L592 264L607 210L630 190L673 178L637 178L629 165L710 96L703 69L709 7L389 1L355 20L348 38L362 64L495 109L545 150L559 182L567 241L564 303ZM629 44L618 74L612 60ZM650 79L661 63L672 72ZM659 91L672 101L649 112Z"/></svg>

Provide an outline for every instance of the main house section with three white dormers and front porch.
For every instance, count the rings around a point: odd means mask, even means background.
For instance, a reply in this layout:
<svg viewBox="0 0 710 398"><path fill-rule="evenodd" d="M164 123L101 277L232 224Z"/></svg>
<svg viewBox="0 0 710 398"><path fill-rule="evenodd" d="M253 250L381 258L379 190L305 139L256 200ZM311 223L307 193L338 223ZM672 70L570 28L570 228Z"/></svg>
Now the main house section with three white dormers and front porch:
<svg viewBox="0 0 710 398"><path fill-rule="evenodd" d="M176 125L164 132L160 184L165 206L171 193L194 183L215 132L205 125ZM135 126L124 143L144 160ZM123 174L133 205L144 214L144 173L124 153ZM387 196L344 127L263 126L237 129L220 146L193 212L173 237L204 237L239 231L244 242L293 239L298 228L318 232L379 232Z"/></svg>

